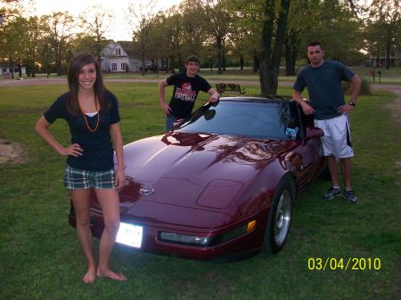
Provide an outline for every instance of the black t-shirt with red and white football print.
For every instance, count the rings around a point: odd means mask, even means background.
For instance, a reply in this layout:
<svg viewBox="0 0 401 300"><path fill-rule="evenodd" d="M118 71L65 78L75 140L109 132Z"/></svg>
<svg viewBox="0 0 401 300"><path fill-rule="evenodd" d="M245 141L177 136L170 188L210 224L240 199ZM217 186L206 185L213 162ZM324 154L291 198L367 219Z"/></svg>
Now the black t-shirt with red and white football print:
<svg viewBox="0 0 401 300"><path fill-rule="evenodd" d="M168 85L174 85L173 96L169 103L171 114L176 118L188 117L193 109L199 91L208 92L211 86L199 75L187 77L185 73L167 78Z"/></svg>

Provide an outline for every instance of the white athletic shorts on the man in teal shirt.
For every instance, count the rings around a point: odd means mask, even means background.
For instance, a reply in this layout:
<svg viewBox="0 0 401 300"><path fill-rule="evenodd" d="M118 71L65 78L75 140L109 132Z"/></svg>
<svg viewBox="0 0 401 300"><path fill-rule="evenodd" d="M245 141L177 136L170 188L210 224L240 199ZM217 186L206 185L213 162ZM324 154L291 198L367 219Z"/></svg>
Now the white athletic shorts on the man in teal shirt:
<svg viewBox="0 0 401 300"><path fill-rule="evenodd" d="M323 130L322 136L324 156L334 155L336 158L352 158L348 115L326 120L315 120L315 127Z"/></svg>

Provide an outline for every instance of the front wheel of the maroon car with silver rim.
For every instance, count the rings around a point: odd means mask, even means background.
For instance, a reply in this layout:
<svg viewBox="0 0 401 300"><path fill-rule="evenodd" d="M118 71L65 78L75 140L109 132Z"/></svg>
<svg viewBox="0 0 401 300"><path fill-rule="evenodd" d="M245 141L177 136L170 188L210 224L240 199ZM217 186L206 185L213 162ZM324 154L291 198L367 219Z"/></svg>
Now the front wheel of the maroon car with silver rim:
<svg viewBox="0 0 401 300"><path fill-rule="evenodd" d="M277 184L267 218L262 250L272 255L284 247L291 226L292 202L296 196L294 180L286 175Z"/></svg>

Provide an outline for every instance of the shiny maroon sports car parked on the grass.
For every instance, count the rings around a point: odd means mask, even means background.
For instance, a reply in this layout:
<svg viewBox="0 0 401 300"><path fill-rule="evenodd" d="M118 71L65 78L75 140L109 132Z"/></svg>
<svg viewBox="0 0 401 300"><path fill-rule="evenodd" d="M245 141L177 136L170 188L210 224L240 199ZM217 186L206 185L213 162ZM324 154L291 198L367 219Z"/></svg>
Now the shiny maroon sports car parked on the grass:
<svg viewBox="0 0 401 300"><path fill-rule="evenodd" d="M293 201L325 167L322 135L291 99L241 96L204 105L168 134L127 144L117 243L201 260L280 251ZM94 195L91 205L99 238Z"/></svg>

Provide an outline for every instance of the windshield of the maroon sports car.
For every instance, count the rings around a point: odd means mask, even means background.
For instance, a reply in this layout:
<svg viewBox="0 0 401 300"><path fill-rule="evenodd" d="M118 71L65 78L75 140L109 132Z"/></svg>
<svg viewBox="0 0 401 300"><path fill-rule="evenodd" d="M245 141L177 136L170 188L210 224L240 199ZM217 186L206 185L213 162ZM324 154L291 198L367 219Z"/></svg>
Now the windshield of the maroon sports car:
<svg viewBox="0 0 401 300"><path fill-rule="evenodd" d="M277 140L298 140L300 135L297 109L290 101L219 101L196 110L176 130Z"/></svg>

